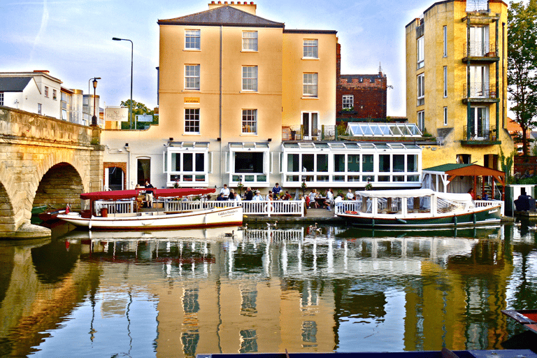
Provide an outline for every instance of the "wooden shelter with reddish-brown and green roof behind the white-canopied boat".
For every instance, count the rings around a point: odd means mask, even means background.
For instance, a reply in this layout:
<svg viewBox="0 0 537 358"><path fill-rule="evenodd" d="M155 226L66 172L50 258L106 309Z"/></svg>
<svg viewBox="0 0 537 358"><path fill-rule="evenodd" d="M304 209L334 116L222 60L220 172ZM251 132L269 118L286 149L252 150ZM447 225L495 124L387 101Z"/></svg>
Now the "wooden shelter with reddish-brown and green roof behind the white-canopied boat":
<svg viewBox="0 0 537 358"><path fill-rule="evenodd" d="M477 192L478 176L483 177L481 180L481 192L485 191L485 177L492 176L502 185L501 200L505 199L506 194L506 173L496 169L487 168L478 164L442 164L431 168L423 169L422 176L427 173L442 180L444 192L447 192L447 185L459 176L471 176L473 178L473 192ZM438 187L438 183L436 185ZM492 192L494 193L494 180L492 180Z"/></svg>

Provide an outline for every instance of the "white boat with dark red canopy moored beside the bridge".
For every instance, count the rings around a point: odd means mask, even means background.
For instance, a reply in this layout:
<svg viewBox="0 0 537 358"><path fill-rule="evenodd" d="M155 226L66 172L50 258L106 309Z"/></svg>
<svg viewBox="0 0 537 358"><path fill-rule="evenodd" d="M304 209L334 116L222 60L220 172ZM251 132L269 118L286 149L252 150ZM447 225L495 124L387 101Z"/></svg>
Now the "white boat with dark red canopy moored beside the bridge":
<svg viewBox="0 0 537 358"><path fill-rule="evenodd" d="M203 196L214 192L215 189L141 188L83 193L80 194L80 199L90 201L90 210L57 215L57 218L77 227L105 230L192 229L241 225L243 223L242 206L180 211L169 211L165 207L161 210L138 207L141 203L139 198L147 194L152 194L152 199L157 201L170 198L180 199L184 196Z"/></svg>

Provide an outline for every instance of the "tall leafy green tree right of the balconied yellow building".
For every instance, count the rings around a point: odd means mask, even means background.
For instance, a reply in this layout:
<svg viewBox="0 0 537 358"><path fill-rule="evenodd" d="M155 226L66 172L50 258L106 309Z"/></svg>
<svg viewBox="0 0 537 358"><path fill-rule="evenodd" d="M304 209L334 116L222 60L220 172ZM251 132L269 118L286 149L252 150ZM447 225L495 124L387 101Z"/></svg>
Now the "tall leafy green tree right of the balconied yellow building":
<svg viewBox="0 0 537 358"><path fill-rule="evenodd" d="M537 0L511 2L507 24L508 99L522 128L522 152L528 155L527 131L537 127Z"/></svg>

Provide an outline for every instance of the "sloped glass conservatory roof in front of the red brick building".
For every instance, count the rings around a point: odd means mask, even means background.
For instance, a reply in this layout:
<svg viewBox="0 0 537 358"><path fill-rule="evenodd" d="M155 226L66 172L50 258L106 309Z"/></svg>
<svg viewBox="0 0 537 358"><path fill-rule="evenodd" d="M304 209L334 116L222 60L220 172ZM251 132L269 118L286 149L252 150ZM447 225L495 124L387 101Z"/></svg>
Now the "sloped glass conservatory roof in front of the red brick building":
<svg viewBox="0 0 537 358"><path fill-rule="evenodd" d="M421 137L415 123L348 123L350 136L366 137Z"/></svg>

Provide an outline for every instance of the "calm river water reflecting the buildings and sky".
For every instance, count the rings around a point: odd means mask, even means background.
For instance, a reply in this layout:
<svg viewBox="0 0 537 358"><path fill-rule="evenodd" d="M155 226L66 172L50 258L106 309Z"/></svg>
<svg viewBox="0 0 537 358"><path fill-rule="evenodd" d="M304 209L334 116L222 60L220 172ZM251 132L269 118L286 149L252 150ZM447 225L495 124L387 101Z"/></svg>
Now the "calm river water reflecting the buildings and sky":
<svg viewBox="0 0 537 358"><path fill-rule="evenodd" d="M537 306L524 226L230 231L0 241L0 356L501 349Z"/></svg>

